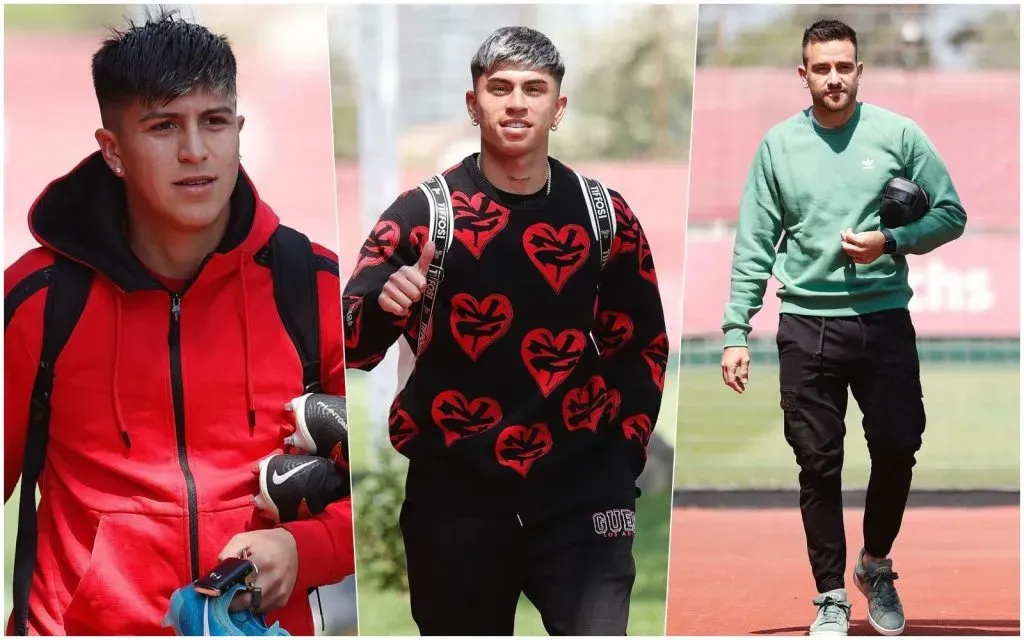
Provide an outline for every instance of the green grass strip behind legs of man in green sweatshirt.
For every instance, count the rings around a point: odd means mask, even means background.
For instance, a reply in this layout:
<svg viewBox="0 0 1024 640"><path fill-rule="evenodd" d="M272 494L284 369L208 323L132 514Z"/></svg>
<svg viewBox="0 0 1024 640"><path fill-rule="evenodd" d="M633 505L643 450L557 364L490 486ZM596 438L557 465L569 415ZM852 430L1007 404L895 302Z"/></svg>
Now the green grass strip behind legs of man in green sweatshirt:
<svg viewBox="0 0 1024 640"><path fill-rule="evenodd" d="M928 426L914 469L915 488L1020 486L1020 370L1016 365L922 366ZM739 396L718 367L680 377L676 486L771 488L797 483L782 436L778 369L755 364ZM850 398L844 485L867 484L861 415Z"/></svg>

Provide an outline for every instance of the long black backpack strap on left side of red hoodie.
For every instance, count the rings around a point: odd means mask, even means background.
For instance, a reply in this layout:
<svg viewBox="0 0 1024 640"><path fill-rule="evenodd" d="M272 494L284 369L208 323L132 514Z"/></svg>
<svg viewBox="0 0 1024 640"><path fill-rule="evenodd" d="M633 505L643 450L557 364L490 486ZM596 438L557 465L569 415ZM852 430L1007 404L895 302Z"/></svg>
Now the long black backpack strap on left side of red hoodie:
<svg viewBox="0 0 1024 640"><path fill-rule="evenodd" d="M53 366L85 309L91 284L91 269L63 256L57 256L46 292L43 348L36 370L36 382L32 387L25 458L22 461L22 500L18 505L13 575L14 633L19 636L29 635L29 593L36 566L38 535L36 484L43 471L46 444L49 441Z"/></svg>

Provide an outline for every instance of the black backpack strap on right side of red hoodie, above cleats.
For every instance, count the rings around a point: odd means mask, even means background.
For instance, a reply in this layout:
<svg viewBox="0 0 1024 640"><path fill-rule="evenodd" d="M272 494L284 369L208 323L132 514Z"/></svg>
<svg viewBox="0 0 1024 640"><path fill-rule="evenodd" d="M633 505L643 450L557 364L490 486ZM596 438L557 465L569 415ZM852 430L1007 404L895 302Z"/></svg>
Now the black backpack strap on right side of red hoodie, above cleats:
<svg viewBox="0 0 1024 640"><path fill-rule="evenodd" d="M303 233L279 225L270 237L270 273L278 313L302 362L304 393L324 390L321 380L316 256Z"/></svg>

